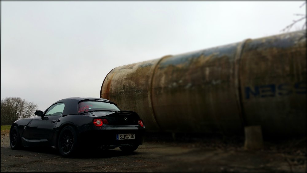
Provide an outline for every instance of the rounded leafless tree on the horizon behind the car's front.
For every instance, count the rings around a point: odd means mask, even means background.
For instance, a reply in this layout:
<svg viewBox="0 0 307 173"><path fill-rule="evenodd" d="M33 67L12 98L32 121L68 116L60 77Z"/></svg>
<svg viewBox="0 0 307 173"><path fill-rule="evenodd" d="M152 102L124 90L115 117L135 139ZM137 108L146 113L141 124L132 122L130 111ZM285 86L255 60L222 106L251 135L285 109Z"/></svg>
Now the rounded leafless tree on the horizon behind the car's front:
<svg viewBox="0 0 307 173"><path fill-rule="evenodd" d="M37 105L19 97L6 97L1 100L1 125L11 125L21 118L34 116Z"/></svg>

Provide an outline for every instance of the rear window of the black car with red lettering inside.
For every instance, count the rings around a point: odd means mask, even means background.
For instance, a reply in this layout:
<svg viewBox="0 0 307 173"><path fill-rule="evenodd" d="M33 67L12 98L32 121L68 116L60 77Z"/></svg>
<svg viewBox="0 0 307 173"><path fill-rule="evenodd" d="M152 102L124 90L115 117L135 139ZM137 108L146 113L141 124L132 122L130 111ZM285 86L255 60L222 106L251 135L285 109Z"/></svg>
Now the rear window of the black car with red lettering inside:
<svg viewBox="0 0 307 173"><path fill-rule="evenodd" d="M119 111L119 108L110 102L85 101L78 104L78 113L91 110L113 110Z"/></svg>

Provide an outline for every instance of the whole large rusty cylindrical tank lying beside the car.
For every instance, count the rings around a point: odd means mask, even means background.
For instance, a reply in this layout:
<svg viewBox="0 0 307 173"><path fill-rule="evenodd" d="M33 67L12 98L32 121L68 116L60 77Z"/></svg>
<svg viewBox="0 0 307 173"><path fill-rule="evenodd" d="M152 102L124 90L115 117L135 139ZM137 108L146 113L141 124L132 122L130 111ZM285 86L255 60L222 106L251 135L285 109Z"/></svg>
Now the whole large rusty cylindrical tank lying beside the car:
<svg viewBox="0 0 307 173"><path fill-rule="evenodd" d="M306 32L116 67L100 98L137 112L149 131L306 135Z"/></svg>

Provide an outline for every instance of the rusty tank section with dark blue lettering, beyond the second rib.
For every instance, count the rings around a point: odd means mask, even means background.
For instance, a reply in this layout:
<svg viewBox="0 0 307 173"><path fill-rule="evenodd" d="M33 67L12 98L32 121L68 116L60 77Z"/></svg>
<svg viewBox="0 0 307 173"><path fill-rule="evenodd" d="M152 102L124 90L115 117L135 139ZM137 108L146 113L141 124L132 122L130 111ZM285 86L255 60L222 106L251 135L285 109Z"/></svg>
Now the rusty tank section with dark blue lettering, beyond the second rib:
<svg viewBox="0 0 307 173"><path fill-rule="evenodd" d="M248 41L241 55L242 105L248 125L269 136L306 134L306 35Z"/></svg>

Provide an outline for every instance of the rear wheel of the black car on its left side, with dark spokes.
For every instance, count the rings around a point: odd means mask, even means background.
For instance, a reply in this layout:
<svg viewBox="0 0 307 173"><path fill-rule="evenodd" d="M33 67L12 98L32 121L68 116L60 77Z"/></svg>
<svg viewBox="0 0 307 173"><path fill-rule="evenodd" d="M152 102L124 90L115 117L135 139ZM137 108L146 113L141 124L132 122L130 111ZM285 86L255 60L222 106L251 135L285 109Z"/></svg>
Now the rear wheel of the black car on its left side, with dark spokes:
<svg viewBox="0 0 307 173"><path fill-rule="evenodd" d="M72 126L64 127L59 135L58 149L62 156L72 156L78 146L78 135Z"/></svg>

